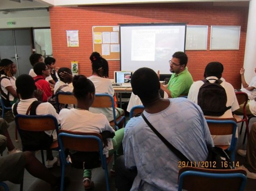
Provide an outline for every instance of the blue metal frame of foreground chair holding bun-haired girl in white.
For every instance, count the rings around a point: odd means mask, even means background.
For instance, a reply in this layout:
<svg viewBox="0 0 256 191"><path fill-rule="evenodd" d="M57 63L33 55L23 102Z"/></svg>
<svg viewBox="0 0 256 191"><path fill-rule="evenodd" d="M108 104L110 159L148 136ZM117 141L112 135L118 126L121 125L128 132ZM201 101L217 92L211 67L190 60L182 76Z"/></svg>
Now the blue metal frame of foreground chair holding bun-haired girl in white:
<svg viewBox="0 0 256 191"><path fill-rule="evenodd" d="M68 164L68 162L66 161L66 156L65 156L65 149L73 149L73 150L77 150L77 151L82 151L82 152L87 152L87 151L97 151L100 153L100 161L101 161L101 166L105 171L105 179L106 179L106 185L107 185L107 191L110 191L109 188L109 181L108 181L108 171L107 171L107 159L106 159L106 155L103 154L103 143L102 143L102 139L101 135L99 133L92 133L92 134L98 134L98 136L96 135L90 135L90 133L79 133L78 132L71 132L71 131L63 131L62 129L60 129L59 131L60 133L58 134L58 143L59 143L59 147L60 147L60 159L61 159L61 168L62 168L62 175L61 175L61 191L64 190L64 178L65 178L65 165ZM84 134L84 135L83 135ZM72 146L67 146L65 143L63 143L63 138L67 137L68 139L68 143L72 142ZM88 139L93 139L97 142L97 146L98 149L90 149L87 150L86 148L84 149L79 149L78 147L75 146L75 140L78 139L84 139L85 141L88 141ZM86 145L86 143L84 143L84 145Z"/></svg>

